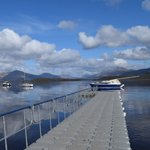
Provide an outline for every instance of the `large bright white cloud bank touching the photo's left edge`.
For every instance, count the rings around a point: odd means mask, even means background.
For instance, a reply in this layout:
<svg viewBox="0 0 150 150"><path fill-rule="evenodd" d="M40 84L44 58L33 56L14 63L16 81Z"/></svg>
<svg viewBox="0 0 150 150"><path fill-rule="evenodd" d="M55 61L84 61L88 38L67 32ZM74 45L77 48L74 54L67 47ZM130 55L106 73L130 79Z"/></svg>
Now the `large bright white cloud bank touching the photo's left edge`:
<svg viewBox="0 0 150 150"><path fill-rule="evenodd" d="M0 31L1 70L15 68L30 59L40 60L43 54L49 55L54 50L54 44L33 40L26 35L20 36L10 29Z"/></svg>

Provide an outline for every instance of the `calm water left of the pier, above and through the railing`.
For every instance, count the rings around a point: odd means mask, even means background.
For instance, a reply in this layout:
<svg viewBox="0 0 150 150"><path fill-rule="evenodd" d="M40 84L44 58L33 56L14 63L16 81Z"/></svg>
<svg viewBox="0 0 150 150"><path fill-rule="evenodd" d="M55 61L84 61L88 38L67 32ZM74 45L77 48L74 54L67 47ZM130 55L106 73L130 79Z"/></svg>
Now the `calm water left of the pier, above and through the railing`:
<svg viewBox="0 0 150 150"><path fill-rule="evenodd" d="M35 86L33 89L19 89L12 87L10 89L0 90L0 112L4 113L16 108L34 103L51 100L52 98L60 97L81 89L85 89L89 84L87 82L53 82ZM75 98L76 97L76 98ZM78 98L77 98L78 97ZM26 123L32 126L28 128L29 145L35 142L40 137L39 114L41 120L41 133L47 133L51 127L55 127L63 121L67 116L76 111L88 100L87 97L81 97L77 94L67 96L67 99L59 98L49 103L34 106L33 116L31 109L26 110ZM14 134L16 131L24 127L24 111L19 111L9 114L5 117L7 135ZM51 118L51 119L50 119ZM51 120L51 121L50 121ZM50 127L51 122L51 127ZM3 120L0 117L0 139L4 137ZM19 144L18 144L19 143ZM23 150L25 148L25 132L24 130L8 138L9 150ZM5 150L4 141L0 142L0 150Z"/></svg>

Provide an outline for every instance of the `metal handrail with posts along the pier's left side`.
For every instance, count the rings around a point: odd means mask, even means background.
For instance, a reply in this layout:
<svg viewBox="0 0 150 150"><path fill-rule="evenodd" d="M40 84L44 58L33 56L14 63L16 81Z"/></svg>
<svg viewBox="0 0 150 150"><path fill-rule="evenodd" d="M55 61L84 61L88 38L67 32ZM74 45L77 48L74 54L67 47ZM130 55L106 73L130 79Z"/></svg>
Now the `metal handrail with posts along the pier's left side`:
<svg viewBox="0 0 150 150"><path fill-rule="evenodd" d="M8 150L8 143L7 143L7 139L9 138L9 137L11 137L11 136L13 136L13 135L15 135L15 134L17 134L17 133L19 133L19 132L21 132L21 131L25 131L25 144L26 144L26 148L28 148L28 146L29 146L29 144L28 144L28 134L27 134L27 129L30 127L30 126L32 126L34 123L36 123L36 124L38 124L38 126L39 126L39 134L40 134L40 137L42 136L42 118L41 118L41 114L40 114L40 105L42 105L42 104L45 104L45 103L48 103L48 102L54 102L54 104L55 105L57 105L56 103L58 103L57 102L57 100L58 99L61 99L61 98L63 98L63 102L64 102L64 99L65 99L65 102L67 101L67 100L69 100L68 99L68 97L69 96L72 96L72 95L75 95L75 94L78 94L78 93L81 93L81 92L83 92L83 91L87 91L87 90L89 90L89 88L86 88L86 89L83 89L83 90L80 90L80 91L76 91L76 92L73 92L73 93L70 93L70 94L67 94L67 95L64 95L64 96L60 96L60 97L56 97L56 98L53 98L53 99L49 99L49 100L46 100L46 101L42 101L42 102L38 102L38 103L35 103L35 104L33 104L33 105L28 105L28 106L24 106L24 107L21 107L21 108L19 108L19 109L15 109L15 110L11 110L11 111L8 111L8 112L6 112L6 113L1 113L0 114L0 118L2 118L2 121L3 121L3 134L4 134L4 136L3 137L1 137L0 138L0 142L2 142L2 141L4 141L4 143L5 143L5 150ZM55 103L55 101L56 101L56 103ZM76 102L76 100L74 101L74 102ZM67 103L68 104L68 103ZM69 100L69 104L71 104L71 101ZM37 110L35 110L35 108L37 107ZM64 105L63 105L63 107L64 107ZM73 108L74 109L74 108ZM29 113L31 113L30 115L30 117L31 117L31 119L29 120L29 123L27 124L27 117L26 117L26 110L29 110ZM21 128L21 129L18 129L17 131L15 131L15 132L13 132L13 133L7 133L7 129L6 129L6 117L7 117L7 115L10 115L10 114L14 114L14 113L17 113L17 112L21 112L21 111L23 111L23 124L24 124L24 126ZM36 112L37 111L37 112ZM74 111L74 110L73 110ZM72 110L70 110L70 112L69 112L69 115L73 112ZM38 121L35 121L36 119L34 118L34 115L36 115L36 113L38 114ZM57 119L58 119L58 124L60 123L60 116L59 116L59 112L57 112ZM49 120L49 129L51 130L51 128L52 128L52 122L51 122L51 118L52 118L52 116L51 116L51 112L50 112L50 103L49 103L49 105L48 105L48 116L49 116L49 119L47 119L47 120ZM66 118L66 114L64 113L64 119Z"/></svg>

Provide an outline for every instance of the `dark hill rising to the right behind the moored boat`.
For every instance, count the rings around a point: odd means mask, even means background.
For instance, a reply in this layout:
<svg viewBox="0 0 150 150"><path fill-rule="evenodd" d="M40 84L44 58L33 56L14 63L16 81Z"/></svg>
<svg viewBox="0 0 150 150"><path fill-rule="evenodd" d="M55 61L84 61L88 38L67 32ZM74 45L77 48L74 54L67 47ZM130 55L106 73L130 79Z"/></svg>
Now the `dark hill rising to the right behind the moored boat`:
<svg viewBox="0 0 150 150"><path fill-rule="evenodd" d="M134 78L124 78L124 77L133 77ZM109 80L120 78L121 83L125 85L141 85L141 86L150 86L150 68L139 69L139 70L127 70L127 69L114 69L113 71L103 72L100 74L85 76L88 79L92 80ZM122 79L121 79L122 78Z"/></svg>

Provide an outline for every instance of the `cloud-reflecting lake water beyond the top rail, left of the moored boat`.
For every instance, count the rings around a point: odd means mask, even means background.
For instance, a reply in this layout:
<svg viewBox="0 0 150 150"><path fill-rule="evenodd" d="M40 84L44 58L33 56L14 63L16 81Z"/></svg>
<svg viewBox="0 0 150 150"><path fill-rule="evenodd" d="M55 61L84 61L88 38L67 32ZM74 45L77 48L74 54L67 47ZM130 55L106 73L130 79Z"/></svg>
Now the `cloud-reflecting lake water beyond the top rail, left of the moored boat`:
<svg viewBox="0 0 150 150"><path fill-rule="evenodd" d="M0 113L13 110L39 101L62 96L88 86L87 82L52 82L35 85L32 90L12 86L9 89L0 87Z"/></svg>

